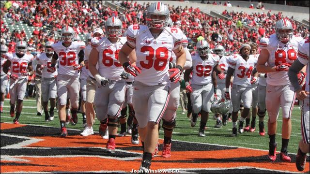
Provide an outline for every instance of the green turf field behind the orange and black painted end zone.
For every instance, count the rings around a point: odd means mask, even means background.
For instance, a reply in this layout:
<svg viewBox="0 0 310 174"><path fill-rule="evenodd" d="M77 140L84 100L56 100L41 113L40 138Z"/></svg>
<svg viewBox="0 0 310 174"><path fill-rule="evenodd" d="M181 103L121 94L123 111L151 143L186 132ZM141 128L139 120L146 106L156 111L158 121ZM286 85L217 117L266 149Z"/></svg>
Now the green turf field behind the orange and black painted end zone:
<svg viewBox="0 0 310 174"><path fill-rule="evenodd" d="M9 115L9 100L5 100L3 113L1 114L1 122L13 122L13 118ZM20 124L34 124L34 125L46 125L52 127L60 127L60 122L58 119L58 114L55 112L55 119L51 122L45 122L44 116L36 115L36 102L35 100L25 100L22 114L19 118ZM277 143L279 151L281 148L281 111L278 120L278 130L277 130ZM83 130L82 126L82 116L78 114L78 124L72 126L71 124L67 125L67 128ZM265 116L265 131L267 132L267 119L268 116ZM218 145L231 145L239 147L249 147L256 149L268 150L268 134L264 137L260 136L258 133L258 117L256 118L256 130L255 132L244 132L243 134L238 134L237 137L230 137L232 133L232 122L228 122L226 126L223 126L220 129L214 128L216 120L213 119L213 113L210 114L210 119L207 122L207 130L205 130L206 137L198 137L200 118L198 118L196 127L190 127L190 119L187 118L186 114L181 114L181 109L177 111L177 122L176 128L173 131L173 140L182 140L188 142L197 142L197 143L209 143L209 144L218 144ZM94 124L94 131L98 131L99 122L96 121ZM160 138L163 138L163 131L160 130ZM289 153L296 153L298 149L298 142L301 139L301 128L300 128L300 109L295 106L292 116L292 134L288 147ZM172 142L173 144L173 142Z"/></svg>

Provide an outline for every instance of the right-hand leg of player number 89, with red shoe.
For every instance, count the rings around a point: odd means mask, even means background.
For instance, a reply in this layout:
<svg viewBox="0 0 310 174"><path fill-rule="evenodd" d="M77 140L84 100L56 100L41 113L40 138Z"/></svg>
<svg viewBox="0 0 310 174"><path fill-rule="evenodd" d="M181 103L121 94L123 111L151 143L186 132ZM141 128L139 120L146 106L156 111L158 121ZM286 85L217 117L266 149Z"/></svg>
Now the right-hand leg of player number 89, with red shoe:
<svg viewBox="0 0 310 174"><path fill-rule="evenodd" d="M292 132L291 115L295 103L294 87L291 84L282 87L282 92L280 95L280 103L282 107L282 121L283 121L282 147L281 147L280 159L283 160L284 162L291 162L291 158L287 154L287 147Z"/></svg>

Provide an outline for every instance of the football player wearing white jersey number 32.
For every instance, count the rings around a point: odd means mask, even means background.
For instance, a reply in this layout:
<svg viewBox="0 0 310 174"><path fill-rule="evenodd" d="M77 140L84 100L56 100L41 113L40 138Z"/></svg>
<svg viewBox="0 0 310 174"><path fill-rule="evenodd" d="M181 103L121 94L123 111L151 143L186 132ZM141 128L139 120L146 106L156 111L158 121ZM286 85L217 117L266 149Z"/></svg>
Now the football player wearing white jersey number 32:
<svg viewBox="0 0 310 174"><path fill-rule="evenodd" d="M61 136L68 135L65 127L66 120L66 103L67 95L71 102L71 115L75 124L78 123L78 94L79 94L79 70L84 66L84 49L85 43L82 41L74 41L75 31L69 26L63 27L61 30L62 41L54 43L53 58L51 67L55 67L58 61L58 76L57 76L57 95L59 105L59 119L61 123Z"/></svg>

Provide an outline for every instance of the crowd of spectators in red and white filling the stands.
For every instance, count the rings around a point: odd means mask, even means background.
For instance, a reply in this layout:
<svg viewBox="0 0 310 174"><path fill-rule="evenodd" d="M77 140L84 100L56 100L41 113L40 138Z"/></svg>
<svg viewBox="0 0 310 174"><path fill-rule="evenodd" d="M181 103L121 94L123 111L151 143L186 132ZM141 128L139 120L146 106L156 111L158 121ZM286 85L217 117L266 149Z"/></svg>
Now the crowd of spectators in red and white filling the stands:
<svg viewBox="0 0 310 174"><path fill-rule="evenodd" d="M112 3L124 7L124 13L120 13L118 7L112 10L111 7L104 6L102 1L13 0L7 1L1 8L1 19L10 18L11 25L22 21L28 26L43 27L35 29L31 38L27 40L33 53L43 51L47 41L57 41L59 30L66 25L73 27L77 34L85 35L95 28L104 30L105 21L110 16L117 16L123 21L124 32L131 24L146 24L146 9L149 3L140 4L132 0L118 0ZM222 14L231 18L225 20L204 14L199 8L170 5L169 9L174 26L183 30L188 37L188 47L193 50L197 37L202 36L211 48L219 43L225 47L228 54L236 53L242 43L258 43L261 37L275 33L274 25L283 17L292 22L295 34L304 38L309 37L309 28L296 24L294 20L281 13L272 14L269 11L267 14L247 14L225 10ZM9 50L14 51L19 40L25 40L25 32L18 30L10 32L1 20L1 44L6 43Z"/></svg>

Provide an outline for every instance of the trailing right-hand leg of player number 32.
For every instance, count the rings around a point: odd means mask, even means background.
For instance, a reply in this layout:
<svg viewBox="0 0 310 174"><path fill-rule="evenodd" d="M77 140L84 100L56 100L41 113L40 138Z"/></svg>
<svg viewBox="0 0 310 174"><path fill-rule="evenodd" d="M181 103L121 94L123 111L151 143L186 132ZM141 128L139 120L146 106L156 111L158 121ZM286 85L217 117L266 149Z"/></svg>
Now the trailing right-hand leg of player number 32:
<svg viewBox="0 0 310 174"><path fill-rule="evenodd" d="M69 84L67 85L68 95L70 97L71 102L71 115L72 120L75 124L78 123L78 96L79 96L79 88L80 83L78 80L78 76L72 76L70 78Z"/></svg>

